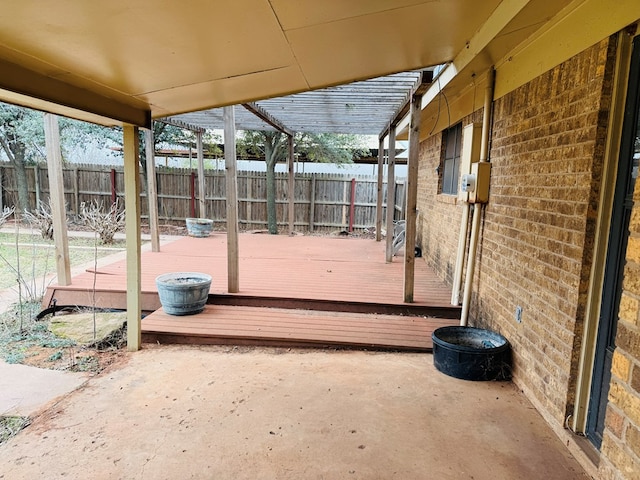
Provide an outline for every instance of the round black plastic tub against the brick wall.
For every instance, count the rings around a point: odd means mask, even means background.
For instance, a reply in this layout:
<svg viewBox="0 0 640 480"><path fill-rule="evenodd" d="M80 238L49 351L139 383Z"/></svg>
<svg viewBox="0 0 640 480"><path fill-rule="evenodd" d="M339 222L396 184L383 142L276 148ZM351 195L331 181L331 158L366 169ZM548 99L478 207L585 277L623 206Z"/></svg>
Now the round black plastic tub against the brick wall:
<svg viewBox="0 0 640 480"><path fill-rule="evenodd" d="M475 327L440 327L433 339L433 363L463 380L509 380L511 345L502 335Z"/></svg>

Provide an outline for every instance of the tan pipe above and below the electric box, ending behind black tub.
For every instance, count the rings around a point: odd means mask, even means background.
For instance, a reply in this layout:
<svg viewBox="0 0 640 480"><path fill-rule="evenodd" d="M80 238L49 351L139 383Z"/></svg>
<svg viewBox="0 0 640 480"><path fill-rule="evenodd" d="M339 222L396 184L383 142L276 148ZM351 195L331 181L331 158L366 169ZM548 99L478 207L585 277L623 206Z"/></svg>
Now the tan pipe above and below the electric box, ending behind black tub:
<svg viewBox="0 0 640 480"><path fill-rule="evenodd" d="M480 162L487 162L489 157L489 134L491 132L491 106L493 103L493 86L495 81L495 70L493 67L487 72L487 88L484 95L484 111L482 113L482 140L480 143ZM473 206L473 220L471 222L471 240L469 242L469 256L467 258L467 277L464 282L464 293L462 297L462 312L460 313L460 325L466 326L469 319L469 305L471 304L471 287L476 264L476 254L478 251L478 234L480 232L480 213L482 204L475 203Z"/></svg>

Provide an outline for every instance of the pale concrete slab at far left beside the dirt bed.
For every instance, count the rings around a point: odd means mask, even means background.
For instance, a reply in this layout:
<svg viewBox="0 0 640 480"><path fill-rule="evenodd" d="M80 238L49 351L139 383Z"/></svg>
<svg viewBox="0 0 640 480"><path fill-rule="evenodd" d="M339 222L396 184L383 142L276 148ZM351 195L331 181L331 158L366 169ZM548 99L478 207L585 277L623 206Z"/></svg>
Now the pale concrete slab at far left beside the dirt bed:
<svg viewBox="0 0 640 480"><path fill-rule="evenodd" d="M0 360L0 415L29 417L88 378L87 373L45 370Z"/></svg>

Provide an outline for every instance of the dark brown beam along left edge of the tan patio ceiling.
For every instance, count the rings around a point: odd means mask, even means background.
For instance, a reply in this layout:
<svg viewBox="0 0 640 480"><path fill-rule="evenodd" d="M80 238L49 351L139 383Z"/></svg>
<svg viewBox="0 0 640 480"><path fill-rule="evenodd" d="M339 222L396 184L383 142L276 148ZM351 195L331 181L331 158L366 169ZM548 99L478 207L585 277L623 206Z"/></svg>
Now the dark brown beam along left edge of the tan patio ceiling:
<svg viewBox="0 0 640 480"><path fill-rule="evenodd" d="M151 111L148 108L134 107L5 60L0 60L0 72L0 89L73 110L91 112L123 124L144 128L151 126ZM47 105L43 104L41 108L47 110Z"/></svg>

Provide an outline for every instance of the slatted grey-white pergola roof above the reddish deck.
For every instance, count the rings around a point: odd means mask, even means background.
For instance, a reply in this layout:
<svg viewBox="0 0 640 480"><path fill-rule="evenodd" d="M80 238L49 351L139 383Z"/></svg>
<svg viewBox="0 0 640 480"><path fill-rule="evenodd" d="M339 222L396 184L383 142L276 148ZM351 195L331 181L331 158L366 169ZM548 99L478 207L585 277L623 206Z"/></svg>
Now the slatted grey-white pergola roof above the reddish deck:
<svg viewBox="0 0 640 480"><path fill-rule="evenodd" d="M255 102L294 132L378 135L407 101L420 72L404 72L338 87ZM159 119L162 120L162 119ZM169 117L187 125L222 129L223 109ZM238 130L276 130L246 108L235 109Z"/></svg>

